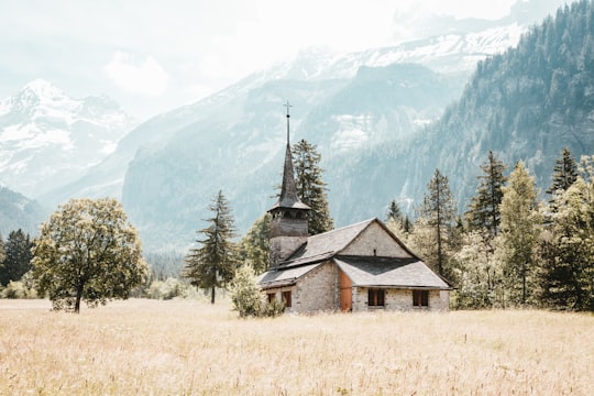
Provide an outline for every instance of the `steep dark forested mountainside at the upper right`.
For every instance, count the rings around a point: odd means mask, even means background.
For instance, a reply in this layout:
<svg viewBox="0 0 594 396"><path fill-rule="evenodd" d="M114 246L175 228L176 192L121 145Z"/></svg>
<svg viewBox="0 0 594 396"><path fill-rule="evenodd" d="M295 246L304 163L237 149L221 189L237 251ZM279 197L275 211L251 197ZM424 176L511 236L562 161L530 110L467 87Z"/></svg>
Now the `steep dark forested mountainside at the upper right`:
<svg viewBox="0 0 594 396"><path fill-rule="evenodd" d="M394 163L413 158L417 169L400 182L415 189L403 189L400 196L420 197L435 168L440 168L464 210L490 150L509 170L524 161L541 193L550 186L563 147L576 161L593 155L593 20L591 1L565 6L516 47L480 62L460 100L394 157ZM378 154L370 158L374 155Z"/></svg>

